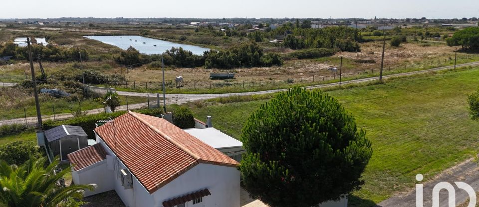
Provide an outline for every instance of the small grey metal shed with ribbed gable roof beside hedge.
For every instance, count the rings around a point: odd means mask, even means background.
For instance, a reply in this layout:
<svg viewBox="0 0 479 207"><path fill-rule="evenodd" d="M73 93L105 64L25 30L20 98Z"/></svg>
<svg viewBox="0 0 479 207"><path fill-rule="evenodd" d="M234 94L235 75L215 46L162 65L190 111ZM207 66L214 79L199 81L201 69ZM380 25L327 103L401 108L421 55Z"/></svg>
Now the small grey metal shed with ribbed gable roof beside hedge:
<svg viewBox="0 0 479 207"><path fill-rule="evenodd" d="M60 155L61 161L68 160L66 155L88 147L88 135L79 126L57 126L46 130L45 138L53 156Z"/></svg>

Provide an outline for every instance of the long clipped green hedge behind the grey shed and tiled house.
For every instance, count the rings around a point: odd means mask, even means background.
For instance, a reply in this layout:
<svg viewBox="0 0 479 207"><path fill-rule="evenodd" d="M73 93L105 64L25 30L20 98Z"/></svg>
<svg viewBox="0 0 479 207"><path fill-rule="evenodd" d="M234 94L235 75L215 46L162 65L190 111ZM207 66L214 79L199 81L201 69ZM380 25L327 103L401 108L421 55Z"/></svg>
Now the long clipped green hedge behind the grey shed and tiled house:
<svg viewBox="0 0 479 207"><path fill-rule="evenodd" d="M157 116L159 117L162 114L160 109L139 109L133 110L134 112L146 114L150 116ZM115 113L100 113L100 114L92 114L86 116L75 117L73 119L63 120L63 121L52 121L46 120L43 122L43 129L48 130L54 128L56 126L64 125L73 125L73 126L80 126L85 130L86 134L88 135L89 139L94 139L95 134L93 130L95 129L95 124L100 120L109 120L110 118L114 119L125 114L126 111L117 111Z"/></svg>

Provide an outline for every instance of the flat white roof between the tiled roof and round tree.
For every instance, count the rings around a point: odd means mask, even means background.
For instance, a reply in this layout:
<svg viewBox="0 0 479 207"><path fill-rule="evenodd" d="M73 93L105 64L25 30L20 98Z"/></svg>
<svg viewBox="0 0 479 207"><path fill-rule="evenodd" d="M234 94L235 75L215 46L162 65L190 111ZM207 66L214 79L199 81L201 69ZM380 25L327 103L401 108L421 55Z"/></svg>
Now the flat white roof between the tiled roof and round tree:
<svg viewBox="0 0 479 207"><path fill-rule="evenodd" d="M198 128L198 129L184 129L188 134L193 135L199 140L215 149L242 147L243 143L239 140L228 136L227 134L217 130L213 127Z"/></svg>

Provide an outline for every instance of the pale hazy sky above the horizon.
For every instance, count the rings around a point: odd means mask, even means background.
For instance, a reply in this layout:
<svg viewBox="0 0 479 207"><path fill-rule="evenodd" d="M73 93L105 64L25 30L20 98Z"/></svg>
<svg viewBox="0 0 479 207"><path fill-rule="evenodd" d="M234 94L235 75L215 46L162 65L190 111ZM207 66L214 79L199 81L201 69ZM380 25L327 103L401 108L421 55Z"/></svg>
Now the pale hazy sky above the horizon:
<svg viewBox="0 0 479 207"><path fill-rule="evenodd" d="M0 18L463 18L479 0L1 0ZM23 6L29 5L29 6Z"/></svg>

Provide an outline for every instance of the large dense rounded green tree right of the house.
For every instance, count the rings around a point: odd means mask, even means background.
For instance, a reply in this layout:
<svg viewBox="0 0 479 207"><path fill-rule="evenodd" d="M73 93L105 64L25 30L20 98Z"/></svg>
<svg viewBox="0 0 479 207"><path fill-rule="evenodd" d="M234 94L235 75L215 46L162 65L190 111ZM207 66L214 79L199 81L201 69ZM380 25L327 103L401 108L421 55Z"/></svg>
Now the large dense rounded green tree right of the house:
<svg viewBox="0 0 479 207"><path fill-rule="evenodd" d="M337 100L301 88L253 112L241 142L244 187L273 207L319 206L349 195L364 184L372 155L365 131Z"/></svg>

